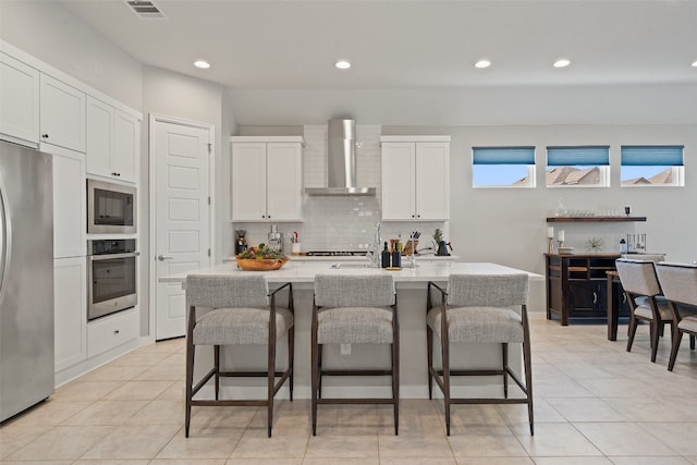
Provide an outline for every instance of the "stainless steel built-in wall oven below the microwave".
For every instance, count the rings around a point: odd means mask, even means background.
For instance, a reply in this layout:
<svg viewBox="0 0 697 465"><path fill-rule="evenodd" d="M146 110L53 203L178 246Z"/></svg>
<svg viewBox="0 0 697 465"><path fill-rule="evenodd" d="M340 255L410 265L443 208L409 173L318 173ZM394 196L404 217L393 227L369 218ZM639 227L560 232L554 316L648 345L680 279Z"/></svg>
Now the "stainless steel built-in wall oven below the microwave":
<svg viewBox="0 0 697 465"><path fill-rule="evenodd" d="M138 303L135 238L87 241L87 319Z"/></svg>

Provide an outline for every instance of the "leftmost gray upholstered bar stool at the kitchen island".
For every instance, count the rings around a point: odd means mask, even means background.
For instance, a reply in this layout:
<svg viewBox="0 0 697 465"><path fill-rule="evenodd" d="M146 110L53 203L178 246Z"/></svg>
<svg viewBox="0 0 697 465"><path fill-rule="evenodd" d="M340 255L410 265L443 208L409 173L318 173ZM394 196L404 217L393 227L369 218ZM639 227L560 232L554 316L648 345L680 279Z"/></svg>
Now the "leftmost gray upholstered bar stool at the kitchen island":
<svg viewBox="0 0 697 465"><path fill-rule="evenodd" d="M288 307L277 306L277 294L288 290ZM285 380L290 380L290 397L293 401L293 287L285 283L269 294L264 276L210 276L189 274L186 278L188 327L186 331L186 418L188 430L194 405L265 406L267 407L268 436L273 426L273 397ZM198 307L212 308L200 316ZM276 368L276 342L288 334L288 368ZM221 371L221 345L268 345L265 371ZM212 345L213 367L193 386L196 345ZM215 377L215 400L194 400L193 396ZM219 400L221 377L266 377L265 400ZM276 378L280 377L278 382Z"/></svg>

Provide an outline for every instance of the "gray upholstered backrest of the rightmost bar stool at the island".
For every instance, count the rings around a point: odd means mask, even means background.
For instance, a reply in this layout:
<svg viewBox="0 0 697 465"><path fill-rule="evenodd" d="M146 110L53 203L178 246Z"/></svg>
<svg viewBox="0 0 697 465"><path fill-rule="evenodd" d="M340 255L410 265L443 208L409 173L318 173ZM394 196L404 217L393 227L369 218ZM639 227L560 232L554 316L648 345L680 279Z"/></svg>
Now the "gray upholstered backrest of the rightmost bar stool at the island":
<svg viewBox="0 0 697 465"><path fill-rule="evenodd" d="M448 280L448 305L452 307L510 307L525 305L528 276L451 274Z"/></svg>

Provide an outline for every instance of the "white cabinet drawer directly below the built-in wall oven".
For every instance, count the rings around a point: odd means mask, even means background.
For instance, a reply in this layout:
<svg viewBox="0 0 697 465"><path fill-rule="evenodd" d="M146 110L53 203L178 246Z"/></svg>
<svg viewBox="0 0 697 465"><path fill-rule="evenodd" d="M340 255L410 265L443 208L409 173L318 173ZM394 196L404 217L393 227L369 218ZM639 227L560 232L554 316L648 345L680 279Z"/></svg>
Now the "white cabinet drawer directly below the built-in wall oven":
<svg viewBox="0 0 697 465"><path fill-rule="evenodd" d="M87 325L87 356L94 357L138 338L137 307L119 311Z"/></svg>

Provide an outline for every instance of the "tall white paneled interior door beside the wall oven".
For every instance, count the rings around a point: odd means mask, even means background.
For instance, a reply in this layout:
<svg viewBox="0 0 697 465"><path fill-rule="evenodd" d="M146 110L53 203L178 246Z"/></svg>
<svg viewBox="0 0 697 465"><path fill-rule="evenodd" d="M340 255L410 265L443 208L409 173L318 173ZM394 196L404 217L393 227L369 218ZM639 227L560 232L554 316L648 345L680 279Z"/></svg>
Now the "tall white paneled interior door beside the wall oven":
<svg viewBox="0 0 697 465"><path fill-rule="evenodd" d="M210 265L209 151L211 130L156 121L155 339L184 335L186 308L179 284L159 278ZM151 135L152 136L152 135ZM152 155L151 155L152 156Z"/></svg>

